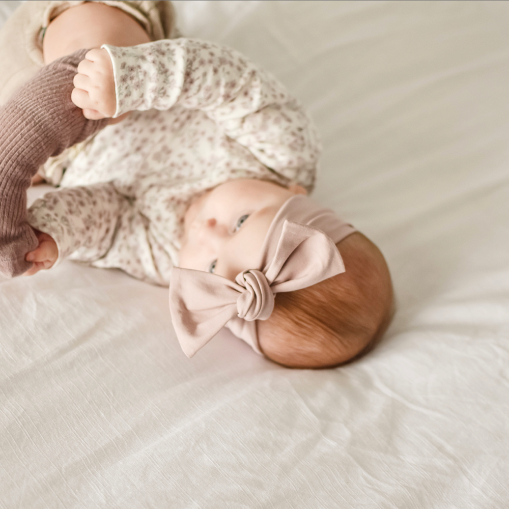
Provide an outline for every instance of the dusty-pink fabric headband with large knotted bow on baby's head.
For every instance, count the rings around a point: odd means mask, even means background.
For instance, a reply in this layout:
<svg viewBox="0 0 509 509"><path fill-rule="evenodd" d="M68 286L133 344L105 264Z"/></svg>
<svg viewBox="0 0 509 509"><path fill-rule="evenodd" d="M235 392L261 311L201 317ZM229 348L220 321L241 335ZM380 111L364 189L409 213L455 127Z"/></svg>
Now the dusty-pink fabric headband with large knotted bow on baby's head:
<svg viewBox="0 0 509 509"><path fill-rule="evenodd" d="M329 236L322 230L330 232ZM184 353L192 357L225 325L260 352L254 321L270 317L274 295L344 272L335 243L354 231L332 211L299 195L288 200L272 220L259 269L244 270L230 281L217 274L174 267L169 308Z"/></svg>

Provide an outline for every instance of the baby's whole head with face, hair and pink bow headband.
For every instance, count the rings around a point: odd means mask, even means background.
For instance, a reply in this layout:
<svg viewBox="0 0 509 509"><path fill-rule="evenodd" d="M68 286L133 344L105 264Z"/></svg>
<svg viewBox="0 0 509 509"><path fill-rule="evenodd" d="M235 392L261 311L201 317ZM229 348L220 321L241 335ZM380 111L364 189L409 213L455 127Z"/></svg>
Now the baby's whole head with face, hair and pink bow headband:
<svg viewBox="0 0 509 509"><path fill-rule="evenodd" d="M226 325L282 365L331 367L383 334L393 296L382 254L305 195L300 186L240 179L189 207L180 267L195 270L174 268L170 284L188 356Z"/></svg>

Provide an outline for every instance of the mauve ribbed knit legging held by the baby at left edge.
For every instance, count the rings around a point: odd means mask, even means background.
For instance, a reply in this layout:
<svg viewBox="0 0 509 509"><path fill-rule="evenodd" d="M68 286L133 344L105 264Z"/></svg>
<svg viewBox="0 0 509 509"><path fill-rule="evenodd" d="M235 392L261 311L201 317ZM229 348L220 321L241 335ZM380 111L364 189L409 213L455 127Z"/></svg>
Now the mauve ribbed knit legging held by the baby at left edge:
<svg viewBox="0 0 509 509"><path fill-rule="evenodd" d="M0 108L0 273L17 276L38 245L26 222L26 190L49 157L88 138L107 119L83 117L71 102L73 77L87 50L43 67Z"/></svg>

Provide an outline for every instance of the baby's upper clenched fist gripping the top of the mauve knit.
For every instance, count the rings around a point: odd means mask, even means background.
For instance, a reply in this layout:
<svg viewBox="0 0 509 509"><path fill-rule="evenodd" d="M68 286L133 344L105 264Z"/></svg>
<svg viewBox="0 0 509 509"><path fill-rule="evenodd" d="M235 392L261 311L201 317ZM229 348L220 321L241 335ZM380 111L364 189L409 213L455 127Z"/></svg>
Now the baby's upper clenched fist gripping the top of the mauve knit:
<svg viewBox="0 0 509 509"><path fill-rule="evenodd" d="M91 49L78 65L74 76L71 100L83 110L89 120L99 120L115 115L117 96L115 78L109 54L105 49Z"/></svg>

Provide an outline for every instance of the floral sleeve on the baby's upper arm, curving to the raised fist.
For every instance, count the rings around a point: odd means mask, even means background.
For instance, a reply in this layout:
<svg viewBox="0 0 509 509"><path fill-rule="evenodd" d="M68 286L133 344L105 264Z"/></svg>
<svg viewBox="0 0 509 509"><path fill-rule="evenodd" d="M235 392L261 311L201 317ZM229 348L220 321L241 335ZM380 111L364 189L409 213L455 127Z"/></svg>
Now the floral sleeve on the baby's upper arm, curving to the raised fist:
<svg viewBox="0 0 509 509"><path fill-rule="evenodd" d="M196 39L103 46L115 74L118 117L130 110L200 109L265 166L311 189L321 151L306 111L238 51Z"/></svg>

